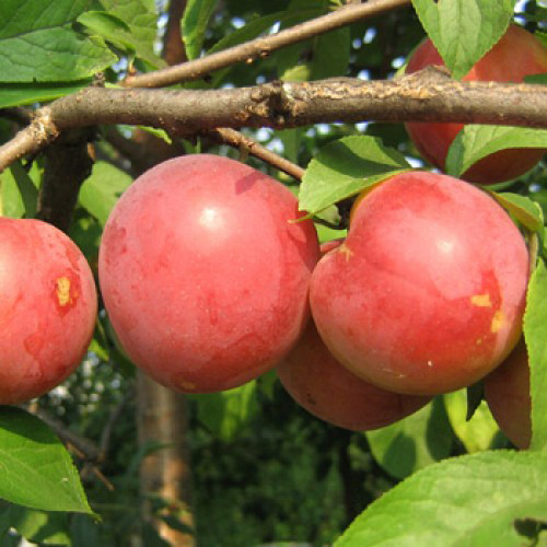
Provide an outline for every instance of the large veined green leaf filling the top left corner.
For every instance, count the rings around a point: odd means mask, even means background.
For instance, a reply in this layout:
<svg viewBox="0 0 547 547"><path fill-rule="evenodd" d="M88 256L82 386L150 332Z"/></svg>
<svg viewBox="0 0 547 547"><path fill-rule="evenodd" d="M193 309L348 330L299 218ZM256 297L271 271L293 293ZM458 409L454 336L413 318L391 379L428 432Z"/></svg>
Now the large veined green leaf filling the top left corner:
<svg viewBox="0 0 547 547"><path fill-rule="evenodd" d="M89 78L117 60L97 37L73 28L88 0L3 0L0 81L56 82Z"/></svg>

